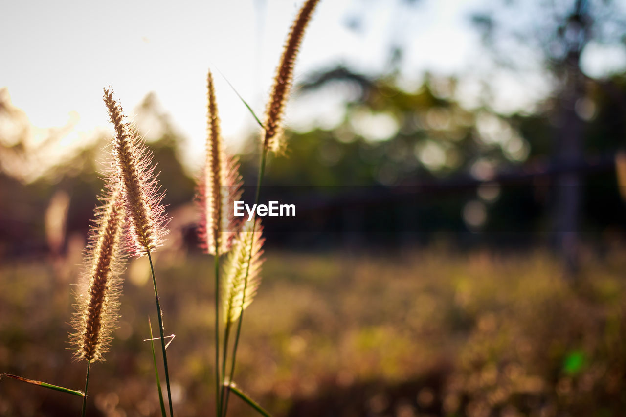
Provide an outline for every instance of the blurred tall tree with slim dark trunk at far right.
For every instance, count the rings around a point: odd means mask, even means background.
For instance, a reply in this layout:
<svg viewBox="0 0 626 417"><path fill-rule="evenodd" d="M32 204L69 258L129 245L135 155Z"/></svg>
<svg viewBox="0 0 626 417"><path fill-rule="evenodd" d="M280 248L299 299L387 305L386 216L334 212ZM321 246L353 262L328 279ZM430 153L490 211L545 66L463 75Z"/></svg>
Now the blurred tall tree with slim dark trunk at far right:
<svg viewBox="0 0 626 417"><path fill-rule="evenodd" d="M577 167L584 160L585 130L596 106L590 98L590 86L616 90L614 86L607 87L610 83L598 83L585 74L582 57L586 49L588 52L598 45L626 46L626 11L623 4L611 0L509 0L500 3L504 5L500 10L498 3L493 4L491 11L473 16L496 63L513 71L539 70L553 80L555 100L548 109L553 116L552 160L565 168L553 183L553 230L555 244L571 276L577 270L583 197L583 176ZM516 21L512 16L516 16ZM530 24L520 26L520 21ZM535 68L524 62L529 54L520 51L530 51L535 56ZM623 120L623 91L617 93L617 101L621 103L617 120ZM617 138L607 138L614 147Z"/></svg>

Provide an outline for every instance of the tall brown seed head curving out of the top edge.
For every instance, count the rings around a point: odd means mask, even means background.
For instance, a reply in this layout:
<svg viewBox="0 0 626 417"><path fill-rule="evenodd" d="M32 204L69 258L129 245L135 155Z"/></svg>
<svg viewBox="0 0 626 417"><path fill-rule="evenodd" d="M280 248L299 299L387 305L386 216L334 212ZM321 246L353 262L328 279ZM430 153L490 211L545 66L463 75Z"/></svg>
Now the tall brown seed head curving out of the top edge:
<svg viewBox="0 0 626 417"><path fill-rule="evenodd" d="M291 26L289 36L287 36L287 42L285 43L282 56L280 57L280 64L274 76L274 86L272 87L270 100L267 102L267 109L265 110L265 131L263 138L265 150L281 152L284 148L284 145L281 143L281 136L285 101L287 101L289 90L293 83L295 58L297 57L298 49L304 37L304 30L309 23L317 3L319 3L319 0L306 0L304 2L298 16Z"/></svg>

